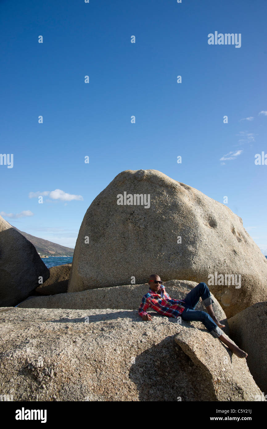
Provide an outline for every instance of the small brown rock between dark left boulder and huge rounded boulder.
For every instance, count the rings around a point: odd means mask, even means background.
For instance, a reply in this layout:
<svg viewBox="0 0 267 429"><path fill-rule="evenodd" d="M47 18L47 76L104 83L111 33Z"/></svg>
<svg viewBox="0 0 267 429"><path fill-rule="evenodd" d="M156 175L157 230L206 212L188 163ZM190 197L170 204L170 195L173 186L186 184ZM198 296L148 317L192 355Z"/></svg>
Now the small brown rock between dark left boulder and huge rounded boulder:
<svg viewBox="0 0 267 429"><path fill-rule="evenodd" d="M49 268L50 276L45 283L36 287L35 292L39 295L55 295L68 290L69 275L72 264L57 265Z"/></svg>

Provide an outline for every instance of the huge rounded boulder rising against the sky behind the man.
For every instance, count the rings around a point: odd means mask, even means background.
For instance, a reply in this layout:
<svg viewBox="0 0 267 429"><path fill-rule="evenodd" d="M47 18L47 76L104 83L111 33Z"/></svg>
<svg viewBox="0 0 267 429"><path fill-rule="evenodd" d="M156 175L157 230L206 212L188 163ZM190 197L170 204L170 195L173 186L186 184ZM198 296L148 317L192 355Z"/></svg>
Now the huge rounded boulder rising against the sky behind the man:
<svg viewBox="0 0 267 429"><path fill-rule="evenodd" d="M144 205L118 205L124 192L149 194L150 206L147 199ZM208 284L216 272L241 275L241 287ZM127 170L84 216L68 291L129 284L132 276L141 284L152 273L163 281L204 281L227 317L267 299L267 260L239 216L157 170Z"/></svg>

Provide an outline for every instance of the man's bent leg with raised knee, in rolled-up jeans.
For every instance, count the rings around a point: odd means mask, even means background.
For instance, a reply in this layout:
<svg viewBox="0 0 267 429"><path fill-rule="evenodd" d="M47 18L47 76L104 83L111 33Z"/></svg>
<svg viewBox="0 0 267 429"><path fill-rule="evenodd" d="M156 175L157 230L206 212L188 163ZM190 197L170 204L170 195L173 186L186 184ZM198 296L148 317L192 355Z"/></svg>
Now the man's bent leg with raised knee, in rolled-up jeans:
<svg viewBox="0 0 267 429"><path fill-rule="evenodd" d="M185 297L186 304L191 307L193 310L195 310L195 306L197 305L199 298L201 297L204 305L207 308L207 312L212 318L212 320L216 323L219 328L224 328L225 325L222 325L220 321L217 319L217 317L214 314L212 303L214 302L211 295L210 290L207 287L207 284L202 282L199 283L194 289L190 290L190 292Z"/></svg>

